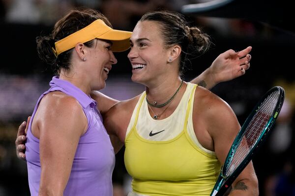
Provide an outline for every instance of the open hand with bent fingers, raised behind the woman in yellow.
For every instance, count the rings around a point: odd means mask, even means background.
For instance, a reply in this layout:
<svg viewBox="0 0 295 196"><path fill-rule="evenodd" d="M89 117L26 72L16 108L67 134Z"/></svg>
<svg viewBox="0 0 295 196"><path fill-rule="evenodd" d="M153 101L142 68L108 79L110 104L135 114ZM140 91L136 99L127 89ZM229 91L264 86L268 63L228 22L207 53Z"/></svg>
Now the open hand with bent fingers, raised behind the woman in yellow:
<svg viewBox="0 0 295 196"><path fill-rule="evenodd" d="M208 68L214 83L229 81L245 74L250 68L251 49L249 46L238 52L229 49L221 53Z"/></svg>

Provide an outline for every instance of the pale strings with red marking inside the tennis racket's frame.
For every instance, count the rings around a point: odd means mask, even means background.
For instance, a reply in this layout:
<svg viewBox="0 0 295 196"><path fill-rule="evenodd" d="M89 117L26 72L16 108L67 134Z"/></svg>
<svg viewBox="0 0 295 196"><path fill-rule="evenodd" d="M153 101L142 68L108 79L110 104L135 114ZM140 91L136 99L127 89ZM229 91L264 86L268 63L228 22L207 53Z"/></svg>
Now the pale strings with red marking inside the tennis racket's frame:
<svg viewBox="0 0 295 196"><path fill-rule="evenodd" d="M229 176L235 171L244 158L249 154L250 150L255 146L262 133L265 132L264 130L273 115L278 99L279 91L272 92L258 107L251 122L240 136L240 140L236 147L236 153L234 153L230 165L225 169L225 176Z"/></svg>

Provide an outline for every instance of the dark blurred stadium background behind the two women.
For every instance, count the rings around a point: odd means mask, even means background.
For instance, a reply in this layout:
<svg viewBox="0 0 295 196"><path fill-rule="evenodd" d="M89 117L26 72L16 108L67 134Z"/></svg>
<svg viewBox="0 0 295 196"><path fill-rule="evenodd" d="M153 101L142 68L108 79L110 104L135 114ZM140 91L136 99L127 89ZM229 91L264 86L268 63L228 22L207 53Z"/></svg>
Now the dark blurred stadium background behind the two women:
<svg viewBox="0 0 295 196"><path fill-rule="evenodd" d="M54 23L75 7L97 9L109 18L114 28L132 31L147 11L180 11L184 4L200 2L204 1L0 0L0 196L29 196L26 162L17 159L14 142L19 124L32 113L53 76L37 57L36 36L49 33ZM234 0L213 10L185 14L191 25L201 27L210 35L214 44L206 54L191 59L192 70L185 73L186 81L202 73L220 53L253 47L250 70L211 89L231 105L241 124L268 89L279 85L286 91L279 119L253 159L261 196L295 196L293 12L286 0ZM115 54L118 64L109 73L107 87L102 90L119 100L144 91L143 86L130 80L127 53ZM131 178L123 164L123 152L124 149L116 155L114 196L125 196L130 190Z"/></svg>

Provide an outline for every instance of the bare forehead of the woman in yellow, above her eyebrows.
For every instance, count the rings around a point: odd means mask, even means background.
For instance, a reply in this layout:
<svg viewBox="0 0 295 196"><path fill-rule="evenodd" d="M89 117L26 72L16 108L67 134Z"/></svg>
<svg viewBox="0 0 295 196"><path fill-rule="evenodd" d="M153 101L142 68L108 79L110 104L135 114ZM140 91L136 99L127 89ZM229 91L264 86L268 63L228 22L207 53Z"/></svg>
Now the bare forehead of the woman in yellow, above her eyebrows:
<svg viewBox="0 0 295 196"><path fill-rule="evenodd" d="M149 40L162 39L159 24L153 21L138 22L134 27L131 41L148 38Z"/></svg>

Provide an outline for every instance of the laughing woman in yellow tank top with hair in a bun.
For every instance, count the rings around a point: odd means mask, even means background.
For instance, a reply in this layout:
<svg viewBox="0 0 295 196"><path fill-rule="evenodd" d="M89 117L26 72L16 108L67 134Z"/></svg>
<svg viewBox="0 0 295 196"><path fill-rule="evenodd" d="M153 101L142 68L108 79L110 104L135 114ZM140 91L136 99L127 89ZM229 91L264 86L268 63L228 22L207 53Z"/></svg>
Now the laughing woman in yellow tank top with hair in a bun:
<svg viewBox="0 0 295 196"><path fill-rule="evenodd" d="M188 27L180 14L160 11L142 17L130 43L132 81L146 91L104 116L111 137L125 144L125 166L133 177L129 195L209 196L240 125L225 101L180 78L187 55L208 49L207 35ZM243 73L248 61L239 58L236 72ZM258 195L252 163L230 195Z"/></svg>

